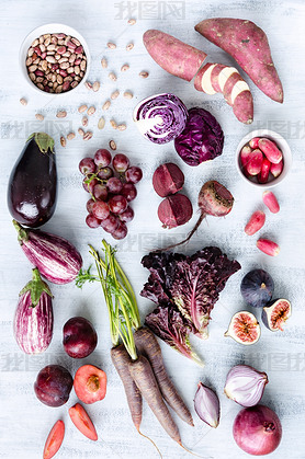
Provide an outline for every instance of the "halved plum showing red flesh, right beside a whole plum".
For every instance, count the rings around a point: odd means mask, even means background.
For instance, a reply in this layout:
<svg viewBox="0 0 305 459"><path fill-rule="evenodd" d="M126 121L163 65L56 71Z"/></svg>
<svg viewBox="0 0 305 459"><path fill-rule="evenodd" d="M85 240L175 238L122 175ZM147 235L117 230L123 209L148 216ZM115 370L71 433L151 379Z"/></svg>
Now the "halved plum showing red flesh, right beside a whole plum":
<svg viewBox="0 0 305 459"><path fill-rule="evenodd" d="M83 365L76 372L74 387L83 403L98 402L106 394L106 374L93 365Z"/></svg>

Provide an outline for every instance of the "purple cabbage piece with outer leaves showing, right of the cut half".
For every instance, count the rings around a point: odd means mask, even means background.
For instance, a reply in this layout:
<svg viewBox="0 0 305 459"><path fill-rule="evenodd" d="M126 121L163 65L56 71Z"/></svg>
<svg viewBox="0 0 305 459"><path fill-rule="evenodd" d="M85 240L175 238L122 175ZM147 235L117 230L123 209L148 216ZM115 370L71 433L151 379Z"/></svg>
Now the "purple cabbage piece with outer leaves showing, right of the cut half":
<svg viewBox="0 0 305 459"><path fill-rule="evenodd" d="M174 148L189 165L213 160L223 152L224 133L210 112L194 107L189 110L184 130L174 139Z"/></svg>

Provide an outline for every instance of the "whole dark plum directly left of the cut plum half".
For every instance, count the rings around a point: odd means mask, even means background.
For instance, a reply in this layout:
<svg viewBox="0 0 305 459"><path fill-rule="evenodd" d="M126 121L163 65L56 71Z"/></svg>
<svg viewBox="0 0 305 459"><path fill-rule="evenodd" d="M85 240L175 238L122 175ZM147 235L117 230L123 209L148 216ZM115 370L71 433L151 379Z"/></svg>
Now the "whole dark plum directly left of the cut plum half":
<svg viewBox="0 0 305 459"><path fill-rule="evenodd" d="M34 383L37 399L48 406L61 406L69 400L74 386L70 372L60 365L47 365Z"/></svg>

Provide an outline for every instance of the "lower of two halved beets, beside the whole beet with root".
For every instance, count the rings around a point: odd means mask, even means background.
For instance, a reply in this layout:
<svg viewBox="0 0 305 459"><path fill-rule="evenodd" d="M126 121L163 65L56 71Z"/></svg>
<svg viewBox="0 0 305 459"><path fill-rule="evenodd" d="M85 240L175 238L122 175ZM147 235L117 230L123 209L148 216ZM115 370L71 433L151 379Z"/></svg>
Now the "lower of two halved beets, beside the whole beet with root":
<svg viewBox="0 0 305 459"><path fill-rule="evenodd" d="M158 207L158 217L163 228L176 228L187 223L192 218L193 207L183 194L168 196Z"/></svg>

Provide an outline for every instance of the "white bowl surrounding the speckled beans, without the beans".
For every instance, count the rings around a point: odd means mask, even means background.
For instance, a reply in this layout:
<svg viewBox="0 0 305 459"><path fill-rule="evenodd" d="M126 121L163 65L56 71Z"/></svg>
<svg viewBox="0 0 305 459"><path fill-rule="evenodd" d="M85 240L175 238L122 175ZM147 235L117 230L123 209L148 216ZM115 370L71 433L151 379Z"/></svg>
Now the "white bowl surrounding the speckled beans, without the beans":
<svg viewBox="0 0 305 459"><path fill-rule="evenodd" d="M29 50L30 46L32 45L32 43L34 42L35 38L38 38L41 35L44 35L44 34L58 34L58 33L64 33L66 35L70 35L70 36L77 38L80 42L81 46L83 47L86 57L87 57L87 67L86 67L86 72L82 77L82 80L78 83L78 85L76 88L70 89L69 91L65 91L65 92L60 92L60 93L56 94L56 93L45 92L45 91L41 90L39 88L37 88L35 83L33 83L33 81L29 77L25 60L26 60L27 50ZM70 27L69 25L58 24L58 23L45 24L45 25L41 25L39 27L34 28L24 38L24 41L23 41L23 43L20 47L20 53L19 53L19 64L20 64L20 68L21 68L23 77L25 78L25 80L27 81L27 83L31 85L32 89L39 92L39 94L44 94L48 97L55 96L55 95L56 96L67 95L67 94L70 94L71 92L76 91L77 89L79 89L87 80L89 69L90 69L90 60L91 59L90 59L89 48L88 48L87 42L84 41L83 36L80 35L75 28Z"/></svg>

